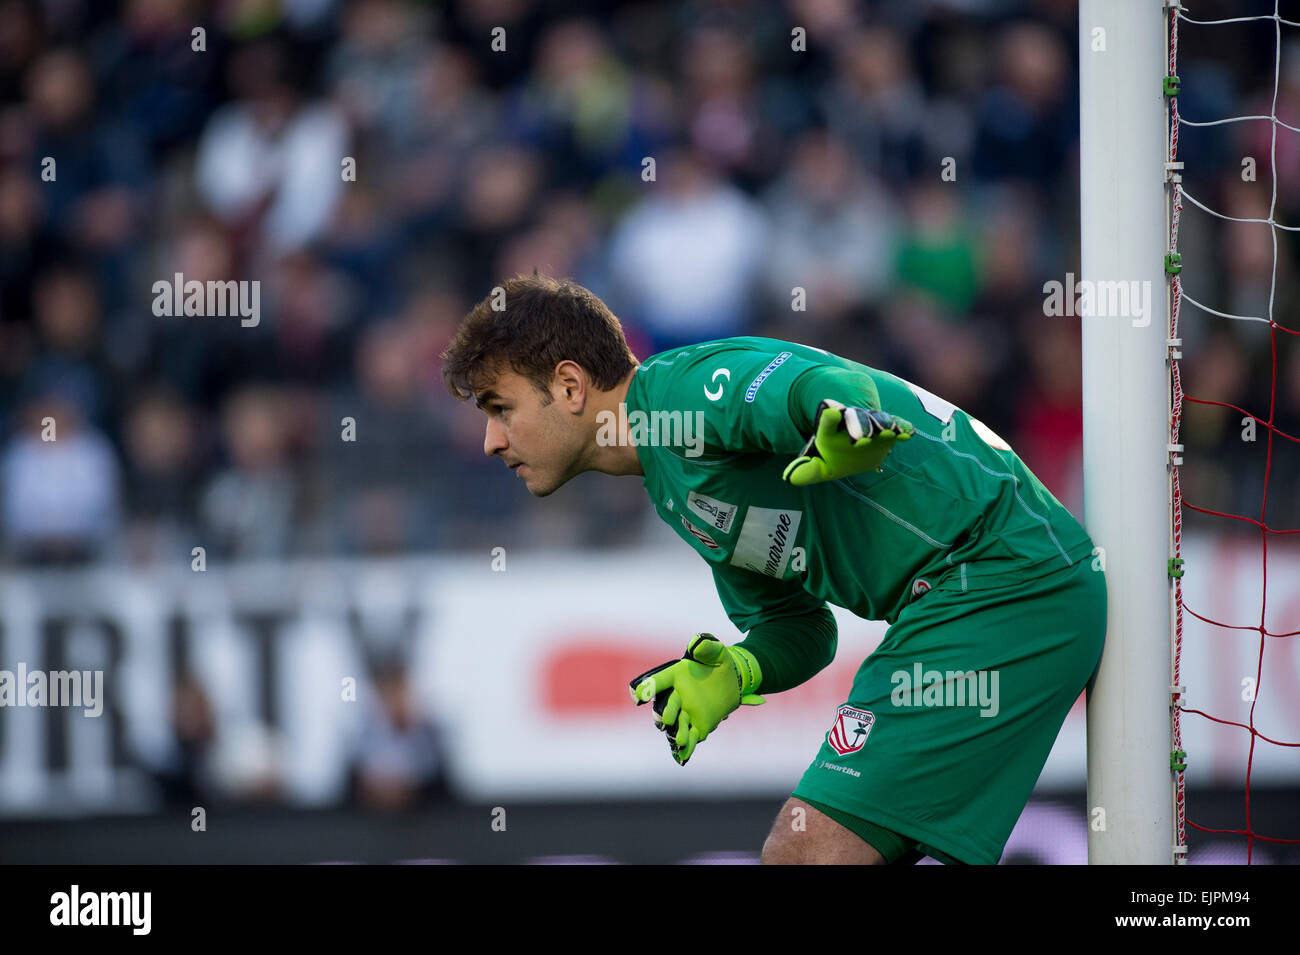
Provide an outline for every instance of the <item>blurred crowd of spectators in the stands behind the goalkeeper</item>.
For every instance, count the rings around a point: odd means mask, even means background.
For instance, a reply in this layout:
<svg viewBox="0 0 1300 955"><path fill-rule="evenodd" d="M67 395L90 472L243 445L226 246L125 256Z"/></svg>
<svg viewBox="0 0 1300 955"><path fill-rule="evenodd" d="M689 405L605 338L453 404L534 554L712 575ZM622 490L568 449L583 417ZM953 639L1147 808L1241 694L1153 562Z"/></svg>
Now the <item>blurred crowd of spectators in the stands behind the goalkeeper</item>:
<svg viewBox="0 0 1300 955"><path fill-rule="evenodd" d="M755 334L901 374L1082 515L1079 322L1043 290L1079 272L1075 4L593 10L0 0L4 561L644 539L637 482L534 502L442 390L460 316L534 268L601 295L641 359ZM1273 44L1184 27L1183 114L1268 114ZM1277 114L1300 125L1291 39ZM1266 218L1273 134L1184 130L1188 190ZM1300 135L1277 139L1274 216L1300 225ZM1300 327L1291 235L1274 268L1266 225L1190 208L1188 292ZM177 273L259 281L259 324L156 316ZM1188 394L1266 420L1269 326L1183 317ZM1274 422L1300 435L1300 347L1275 338ZM1183 487L1257 518L1269 433L1240 417L1188 407ZM1300 526L1296 451L1271 442L1277 526Z"/></svg>

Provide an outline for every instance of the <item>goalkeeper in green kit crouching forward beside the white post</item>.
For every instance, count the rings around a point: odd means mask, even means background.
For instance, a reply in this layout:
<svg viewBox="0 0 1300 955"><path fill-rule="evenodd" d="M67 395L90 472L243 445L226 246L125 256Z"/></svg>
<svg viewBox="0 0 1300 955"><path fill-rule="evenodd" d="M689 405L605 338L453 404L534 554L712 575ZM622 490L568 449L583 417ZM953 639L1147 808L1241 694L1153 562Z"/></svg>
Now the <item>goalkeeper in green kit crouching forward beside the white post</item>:
<svg viewBox="0 0 1300 955"><path fill-rule="evenodd" d="M987 426L892 374L763 338L638 364L581 286L534 274L504 292L443 356L452 394L488 413L485 453L537 496L586 470L641 476L746 634L697 634L632 681L671 756L725 746L741 706L826 668L827 604L844 607L890 626L763 861L996 863L1101 657L1106 587L1079 522ZM654 413L701 427L638 430Z"/></svg>

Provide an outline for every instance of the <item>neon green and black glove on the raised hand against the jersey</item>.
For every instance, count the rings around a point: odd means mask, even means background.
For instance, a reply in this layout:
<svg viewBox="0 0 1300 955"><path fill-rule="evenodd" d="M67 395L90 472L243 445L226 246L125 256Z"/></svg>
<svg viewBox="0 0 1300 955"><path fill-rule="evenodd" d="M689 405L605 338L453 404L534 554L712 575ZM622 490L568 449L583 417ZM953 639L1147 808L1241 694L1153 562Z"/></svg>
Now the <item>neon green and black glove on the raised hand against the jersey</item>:
<svg viewBox="0 0 1300 955"><path fill-rule="evenodd" d="M889 412L845 408L827 398L816 407L816 433L785 466L781 478L805 487L875 470L893 451L894 442L907 440L915 430Z"/></svg>

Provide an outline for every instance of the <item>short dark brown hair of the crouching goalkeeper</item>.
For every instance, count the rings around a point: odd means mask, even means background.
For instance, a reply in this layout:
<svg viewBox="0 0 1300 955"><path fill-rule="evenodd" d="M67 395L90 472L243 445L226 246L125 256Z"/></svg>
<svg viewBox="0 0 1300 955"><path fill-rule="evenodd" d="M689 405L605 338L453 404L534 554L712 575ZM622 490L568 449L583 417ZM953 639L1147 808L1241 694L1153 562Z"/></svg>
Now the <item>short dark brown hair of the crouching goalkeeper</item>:
<svg viewBox="0 0 1300 955"><path fill-rule="evenodd" d="M442 353L442 379L459 400L473 398L503 368L528 378L549 403L551 376L566 359L581 365L601 391L611 391L636 365L619 320L576 282L534 270L500 287L504 309L493 308L500 296L485 298L462 318Z"/></svg>

